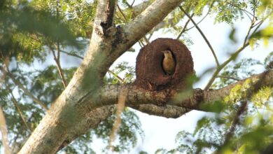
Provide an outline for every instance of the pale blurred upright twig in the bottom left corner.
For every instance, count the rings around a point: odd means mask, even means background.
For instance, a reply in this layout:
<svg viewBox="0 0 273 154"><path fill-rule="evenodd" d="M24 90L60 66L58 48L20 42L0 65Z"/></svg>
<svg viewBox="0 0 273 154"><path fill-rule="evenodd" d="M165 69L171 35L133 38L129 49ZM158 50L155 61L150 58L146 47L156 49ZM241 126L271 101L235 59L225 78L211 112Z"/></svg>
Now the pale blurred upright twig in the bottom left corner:
<svg viewBox="0 0 273 154"><path fill-rule="evenodd" d="M6 154L10 154L10 147L8 146L8 129L6 125L6 118L0 106L0 130L2 134L2 143Z"/></svg>

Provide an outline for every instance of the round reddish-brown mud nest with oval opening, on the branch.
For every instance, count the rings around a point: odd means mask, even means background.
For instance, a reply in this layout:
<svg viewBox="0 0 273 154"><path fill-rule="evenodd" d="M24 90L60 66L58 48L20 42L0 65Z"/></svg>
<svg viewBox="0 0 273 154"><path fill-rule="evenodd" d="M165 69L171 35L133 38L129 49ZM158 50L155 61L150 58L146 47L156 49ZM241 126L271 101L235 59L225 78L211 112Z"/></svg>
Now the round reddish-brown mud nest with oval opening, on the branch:
<svg viewBox="0 0 273 154"><path fill-rule="evenodd" d="M164 53L170 50L176 61L172 75L168 75L162 68ZM183 90L188 88L187 78L193 76L193 58L190 51L178 40L172 38L158 38L144 46L137 55L137 79L135 84L146 90Z"/></svg>

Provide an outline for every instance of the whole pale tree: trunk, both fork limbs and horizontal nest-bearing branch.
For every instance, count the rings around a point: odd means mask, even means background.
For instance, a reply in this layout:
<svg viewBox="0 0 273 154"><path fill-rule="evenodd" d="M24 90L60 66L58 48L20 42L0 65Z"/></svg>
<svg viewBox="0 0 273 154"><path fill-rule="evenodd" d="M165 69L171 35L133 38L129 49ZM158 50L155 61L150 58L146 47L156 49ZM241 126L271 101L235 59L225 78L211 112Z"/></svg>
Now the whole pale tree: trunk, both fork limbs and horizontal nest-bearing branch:
<svg viewBox="0 0 273 154"><path fill-rule="evenodd" d="M244 80L241 80L219 90L197 89L190 97L180 101L170 99L169 94L163 91L143 90L134 85L102 84L109 66L182 1L155 0L124 27L113 25L117 1L98 1L90 48L83 63L19 153L57 153L73 139L111 116L120 90L128 90L127 106L157 116L177 118L191 109L200 110L200 103L223 99L232 87L243 84ZM267 71L250 79L262 79L259 85L262 87L272 86L272 78L273 71Z"/></svg>

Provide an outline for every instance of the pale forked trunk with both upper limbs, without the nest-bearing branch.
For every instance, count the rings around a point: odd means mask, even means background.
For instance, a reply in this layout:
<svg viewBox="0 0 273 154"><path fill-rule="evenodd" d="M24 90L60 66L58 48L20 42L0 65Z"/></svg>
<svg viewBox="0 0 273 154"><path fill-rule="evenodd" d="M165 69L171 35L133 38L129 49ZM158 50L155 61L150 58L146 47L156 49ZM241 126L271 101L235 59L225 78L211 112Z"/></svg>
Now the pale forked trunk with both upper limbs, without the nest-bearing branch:
<svg viewBox="0 0 273 154"><path fill-rule="evenodd" d="M104 106L99 97L109 66L181 1L156 0L125 27L113 25L117 1L98 1L90 48L83 63L19 153L57 153L110 116L113 106Z"/></svg>

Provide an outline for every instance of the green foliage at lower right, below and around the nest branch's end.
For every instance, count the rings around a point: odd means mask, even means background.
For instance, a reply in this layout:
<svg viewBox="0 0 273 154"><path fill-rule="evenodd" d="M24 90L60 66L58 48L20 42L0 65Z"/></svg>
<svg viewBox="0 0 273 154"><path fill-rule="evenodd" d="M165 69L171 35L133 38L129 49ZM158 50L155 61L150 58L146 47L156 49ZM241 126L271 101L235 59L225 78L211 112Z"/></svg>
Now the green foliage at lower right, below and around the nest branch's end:
<svg viewBox="0 0 273 154"><path fill-rule="evenodd" d="M272 53L267 56L267 63ZM251 67L262 66L262 62L254 59L243 59L240 62L227 66L221 73L222 76L234 78L246 78L256 73ZM235 83L232 78L219 78L214 83L215 88L221 88ZM246 80L243 85L235 86L225 102L203 104L202 109L214 112L213 115L204 116L197 122L193 133L179 132L176 142L179 144L165 153L260 153L268 144L272 144L272 88L263 87L253 94L247 105L246 113L239 116L240 120L235 126L234 137L224 144L227 132L230 131L237 111L240 109L239 97L246 94L248 85L252 84Z"/></svg>

